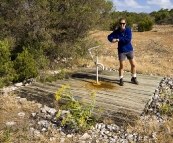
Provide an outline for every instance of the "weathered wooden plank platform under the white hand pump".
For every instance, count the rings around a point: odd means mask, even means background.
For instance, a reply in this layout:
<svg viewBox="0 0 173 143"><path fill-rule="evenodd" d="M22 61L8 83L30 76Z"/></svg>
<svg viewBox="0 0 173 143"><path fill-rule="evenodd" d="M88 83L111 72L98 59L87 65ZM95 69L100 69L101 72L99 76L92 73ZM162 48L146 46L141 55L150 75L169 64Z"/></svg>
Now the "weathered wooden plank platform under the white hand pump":
<svg viewBox="0 0 173 143"><path fill-rule="evenodd" d="M153 95L163 77L138 74L139 85L132 84L131 74L124 73L124 86L119 86L118 72L99 71L99 81L112 86L99 88L93 86L96 82L95 69L76 71L72 78L58 80L52 83L34 83L20 88L17 92L28 100L36 100L48 106L54 106L55 92L62 85L68 84L77 99L90 101L89 94L96 91L96 106L104 110L107 118L116 122L132 120L140 115L145 105Z"/></svg>

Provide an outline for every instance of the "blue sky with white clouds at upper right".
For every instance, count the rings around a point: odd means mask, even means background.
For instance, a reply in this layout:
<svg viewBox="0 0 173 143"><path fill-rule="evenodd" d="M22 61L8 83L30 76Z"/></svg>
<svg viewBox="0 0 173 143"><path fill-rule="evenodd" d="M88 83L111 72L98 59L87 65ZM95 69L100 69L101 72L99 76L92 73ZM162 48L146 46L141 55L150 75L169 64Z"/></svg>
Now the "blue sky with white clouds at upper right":
<svg viewBox="0 0 173 143"><path fill-rule="evenodd" d="M173 0L111 0L116 11L150 13L163 9L173 9Z"/></svg>

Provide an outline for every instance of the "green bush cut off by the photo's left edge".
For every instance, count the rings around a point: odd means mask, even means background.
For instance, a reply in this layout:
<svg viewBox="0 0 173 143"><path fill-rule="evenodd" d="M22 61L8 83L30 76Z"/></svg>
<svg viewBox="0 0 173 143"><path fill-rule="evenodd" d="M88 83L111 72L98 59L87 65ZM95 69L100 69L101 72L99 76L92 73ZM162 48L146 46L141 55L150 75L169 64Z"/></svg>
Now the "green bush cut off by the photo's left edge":
<svg viewBox="0 0 173 143"><path fill-rule="evenodd" d="M10 46L7 39L0 41L0 87L9 85L13 80L14 70L11 62Z"/></svg>

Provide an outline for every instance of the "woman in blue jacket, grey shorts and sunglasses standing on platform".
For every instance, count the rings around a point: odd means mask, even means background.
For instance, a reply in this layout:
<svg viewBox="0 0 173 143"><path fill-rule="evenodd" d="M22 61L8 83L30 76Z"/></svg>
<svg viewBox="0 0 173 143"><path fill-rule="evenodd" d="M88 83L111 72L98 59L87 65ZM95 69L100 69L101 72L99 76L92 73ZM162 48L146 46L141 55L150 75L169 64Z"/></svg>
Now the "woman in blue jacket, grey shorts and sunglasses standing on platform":
<svg viewBox="0 0 173 143"><path fill-rule="evenodd" d="M136 62L134 59L133 47L131 44L132 32L129 27L126 26L126 19L121 18L119 20L119 28L113 31L110 35L108 35L108 40L112 43L118 42L118 58L119 58L119 77L120 77L120 85L123 86L123 72L125 67L125 59L130 62L131 65L131 73L132 78L131 81L134 84L138 84L136 78Z"/></svg>

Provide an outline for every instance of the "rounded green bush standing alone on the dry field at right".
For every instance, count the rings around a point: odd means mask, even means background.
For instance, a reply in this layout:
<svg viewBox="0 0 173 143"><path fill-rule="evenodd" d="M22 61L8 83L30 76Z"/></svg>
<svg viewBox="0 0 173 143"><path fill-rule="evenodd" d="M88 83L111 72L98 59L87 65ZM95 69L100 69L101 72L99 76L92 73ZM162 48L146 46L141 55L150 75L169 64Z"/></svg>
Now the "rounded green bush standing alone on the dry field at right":
<svg viewBox="0 0 173 143"><path fill-rule="evenodd" d="M147 17L138 23L138 31L139 32L150 31L152 30L153 25L154 21L151 18Z"/></svg>

